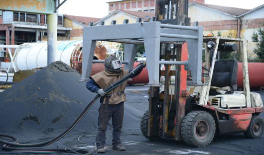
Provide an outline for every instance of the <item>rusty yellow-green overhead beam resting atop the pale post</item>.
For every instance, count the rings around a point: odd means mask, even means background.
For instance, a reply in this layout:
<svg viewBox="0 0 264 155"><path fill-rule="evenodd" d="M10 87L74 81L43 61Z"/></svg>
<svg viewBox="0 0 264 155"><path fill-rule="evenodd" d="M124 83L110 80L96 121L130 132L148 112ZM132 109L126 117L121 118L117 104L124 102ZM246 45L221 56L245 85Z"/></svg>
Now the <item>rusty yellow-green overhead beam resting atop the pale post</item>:
<svg viewBox="0 0 264 155"><path fill-rule="evenodd" d="M55 0L0 0L0 10L51 14Z"/></svg>

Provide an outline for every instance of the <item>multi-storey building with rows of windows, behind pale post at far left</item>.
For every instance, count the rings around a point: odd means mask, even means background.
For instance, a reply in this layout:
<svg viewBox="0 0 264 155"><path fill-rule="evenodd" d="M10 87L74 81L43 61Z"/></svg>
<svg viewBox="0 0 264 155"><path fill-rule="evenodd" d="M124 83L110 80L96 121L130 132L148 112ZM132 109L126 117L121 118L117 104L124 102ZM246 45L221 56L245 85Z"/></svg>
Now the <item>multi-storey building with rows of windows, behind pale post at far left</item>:
<svg viewBox="0 0 264 155"><path fill-rule="evenodd" d="M1 11L0 44L19 45L47 40L47 15ZM58 15L58 40L69 39L71 27L64 27L63 15ZM6 37L5 37L6 36Z"/></svg>

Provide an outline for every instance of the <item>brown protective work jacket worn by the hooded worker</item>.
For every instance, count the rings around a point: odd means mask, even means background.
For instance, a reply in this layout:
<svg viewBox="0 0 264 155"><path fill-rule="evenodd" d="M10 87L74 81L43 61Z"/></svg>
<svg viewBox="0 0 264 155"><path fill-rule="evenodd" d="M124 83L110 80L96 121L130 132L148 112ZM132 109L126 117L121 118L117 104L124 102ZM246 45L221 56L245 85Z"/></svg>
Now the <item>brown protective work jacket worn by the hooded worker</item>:
<svg viewBox="0 0 264 155"><path fill-rule="evenodd" d="M111 86L112 84L116 83L118 80L123 78L124 76L128 75L128 71L123 70L123 72L119 73L112 73L104 69L104 71L101 71L93 76L93 80L103 89ZM127 81L122 83L121 85L117 86L113 90L107 92L107 94L104 96L104 104L106 103L106 100L108 99L108 104L119 104L121 102L126 101L126 95L124 93L124 90L126 88Z"/></svg>

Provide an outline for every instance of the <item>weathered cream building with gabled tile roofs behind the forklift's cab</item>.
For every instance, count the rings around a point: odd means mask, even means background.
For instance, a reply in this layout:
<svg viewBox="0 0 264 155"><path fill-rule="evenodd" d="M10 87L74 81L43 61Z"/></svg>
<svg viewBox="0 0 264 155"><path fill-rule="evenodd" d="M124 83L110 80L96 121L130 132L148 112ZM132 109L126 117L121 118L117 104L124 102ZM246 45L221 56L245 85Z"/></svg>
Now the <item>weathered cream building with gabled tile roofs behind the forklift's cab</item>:
<svg viewBox="0 0 264 155"><path fill-rule="evenodd" d="M199 15L197 14L199 12ZM189 3L191 22L198 21L204 26L204 35L242 38L248 40L248 57L253 59L256 43L252 41L253 32L264 25L264 4L253 9L243 9L211 5L200 2Z"/></svg>

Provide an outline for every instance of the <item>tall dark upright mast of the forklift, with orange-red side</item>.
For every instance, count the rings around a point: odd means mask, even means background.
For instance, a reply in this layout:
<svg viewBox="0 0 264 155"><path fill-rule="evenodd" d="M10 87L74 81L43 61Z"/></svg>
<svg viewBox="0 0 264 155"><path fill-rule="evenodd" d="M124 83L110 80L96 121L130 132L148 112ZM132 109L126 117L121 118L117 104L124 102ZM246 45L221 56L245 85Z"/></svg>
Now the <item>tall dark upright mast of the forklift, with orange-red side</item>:
<svg viewBox="0 0 264 155"><path fill-rule="evenodd" d="M155 17L162 24L190 25L188 0L156 0ZM186 42L160 44L160 59L165 61L187 61ZM180 126L185 116L187 71L183 65L164 65L160 77L164 77L164 91L158 86L150 86L147 136L181 140ZM174 67L174 68L173 68ZM174 93L171 91L171 77L175 77ZM152 119L154 118L154 119ZM157 118L157 119L155 119ZM159 122L157 122L159 121Z"/></svg>

